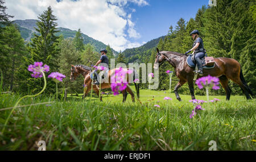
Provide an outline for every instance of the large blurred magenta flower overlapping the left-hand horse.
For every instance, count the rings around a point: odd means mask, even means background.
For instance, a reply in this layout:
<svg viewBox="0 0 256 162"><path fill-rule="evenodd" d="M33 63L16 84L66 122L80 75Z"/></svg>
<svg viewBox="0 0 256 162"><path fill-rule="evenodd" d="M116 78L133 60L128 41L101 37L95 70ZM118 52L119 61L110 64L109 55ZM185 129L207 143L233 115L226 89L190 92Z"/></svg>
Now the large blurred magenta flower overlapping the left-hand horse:
<svg viewBox="0 0 256 162"><path fill-rule="evenodd" d="M119 67L119 69L115 70L115 74L111 77L111 89L114 93L114 95L118 95L118 90L123 91L127 88L127 81L124 79L126 74L133 73L133 70L128 69L125 70L122 67Z"/></svg>

